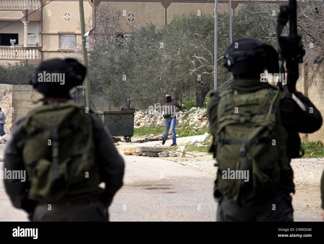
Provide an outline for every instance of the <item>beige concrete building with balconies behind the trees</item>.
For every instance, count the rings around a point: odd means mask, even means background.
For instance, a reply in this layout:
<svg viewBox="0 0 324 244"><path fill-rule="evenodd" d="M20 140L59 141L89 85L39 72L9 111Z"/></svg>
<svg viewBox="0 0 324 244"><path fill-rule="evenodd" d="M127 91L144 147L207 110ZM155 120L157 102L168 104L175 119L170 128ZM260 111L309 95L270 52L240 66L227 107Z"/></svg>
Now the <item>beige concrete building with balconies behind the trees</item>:
<svg viewBox="0 0 324 244"><path fill-rule="evenodd" d="M245 3L232 1L232 13ZM283 1L267 0L272 4ZM286 2L286 1L284 1ZM85 19L95 27L96 7L109 4L122 12L126 23L166 25L173 15L198 12L214 15L212 0L88 0ZM42 7L43 6L43 7ZM228 12L228 1L218 0L218 12ZM78 0L0 0L0 65L17 61L38 64L75 50L81 43Z"/></svg>

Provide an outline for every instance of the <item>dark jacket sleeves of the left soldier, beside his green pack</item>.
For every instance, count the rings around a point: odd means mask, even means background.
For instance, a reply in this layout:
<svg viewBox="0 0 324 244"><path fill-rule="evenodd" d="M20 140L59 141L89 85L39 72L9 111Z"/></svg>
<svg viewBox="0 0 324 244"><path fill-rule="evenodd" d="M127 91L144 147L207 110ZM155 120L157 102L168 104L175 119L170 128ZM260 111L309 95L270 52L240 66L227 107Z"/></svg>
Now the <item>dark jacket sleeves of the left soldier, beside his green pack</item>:
<svg viewBox="0 0 324 244"><path fill-rule="evenodd" d="M107 126L93 113L89 113L88 115L93 121L93 134L96 146L95 157L100 172L100 180L106 183L106 190L103 195L101 194L101 198L103 202L110 203L114 194L123 184L124 161L111 140L111 135ZM22 150L24 147L24 121L25 116L21 117L11 130L11 139L7 142L8 144L5 151L4 168L7 170L25 170L22 157ZM30 212L30 208L35 202L27 198L26 189L30 188L30 184L28 176L26 177L27 179L25 182L21 182L19 179L6 179L5 188L15 207ZM99 193L100 192L97 194Z"/></svg>

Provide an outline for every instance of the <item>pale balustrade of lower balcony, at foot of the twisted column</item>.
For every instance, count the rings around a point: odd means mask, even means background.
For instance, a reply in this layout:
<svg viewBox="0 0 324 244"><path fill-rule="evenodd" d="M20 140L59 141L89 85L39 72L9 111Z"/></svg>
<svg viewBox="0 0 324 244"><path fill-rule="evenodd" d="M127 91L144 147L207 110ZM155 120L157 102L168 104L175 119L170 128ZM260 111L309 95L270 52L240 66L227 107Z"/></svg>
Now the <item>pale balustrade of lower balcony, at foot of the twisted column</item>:
<svg viewBox="0 0 324 244"><path fill-rule="evenodd" d="M41 59L41 47L6 47L0 46L0 60Z"/></svg>

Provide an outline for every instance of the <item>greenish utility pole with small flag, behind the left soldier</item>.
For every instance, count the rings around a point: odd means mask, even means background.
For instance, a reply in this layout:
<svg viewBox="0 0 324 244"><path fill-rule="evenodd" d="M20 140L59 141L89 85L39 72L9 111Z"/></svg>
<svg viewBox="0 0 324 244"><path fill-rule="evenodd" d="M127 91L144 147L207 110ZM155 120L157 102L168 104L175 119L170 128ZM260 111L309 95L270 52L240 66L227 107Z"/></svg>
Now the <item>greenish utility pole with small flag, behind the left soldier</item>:
<svg viewBox="0 0 324 244"><path fill-rule="evenodd" d="M86 49L86 38L82 37L86 33L86 28L84 24L83 0L79 0L79 11L80 11L80 24L81 24L83 64L88 69L88 53ZM88 109L91 110L91 94L90 94L90 82L89 82L88 73L86 74L84 82L86 88L86 104Z"/></svg>

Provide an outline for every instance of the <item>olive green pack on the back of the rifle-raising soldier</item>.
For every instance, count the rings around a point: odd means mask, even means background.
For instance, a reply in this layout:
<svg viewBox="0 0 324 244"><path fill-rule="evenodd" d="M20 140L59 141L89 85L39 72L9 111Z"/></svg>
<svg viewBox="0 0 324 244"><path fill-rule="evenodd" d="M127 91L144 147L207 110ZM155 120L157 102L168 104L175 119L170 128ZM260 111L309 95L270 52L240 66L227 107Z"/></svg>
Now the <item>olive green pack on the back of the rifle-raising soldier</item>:
<svg viewBox="0 0 324 244"><path fill-rule="evenodd" d="M273 88L220 95L217 132L218 164L215 197L226 196L238 206L252 205L259 193L274 191L280 172L290 169L287 131L280 119L284 94Z"/></svg>

